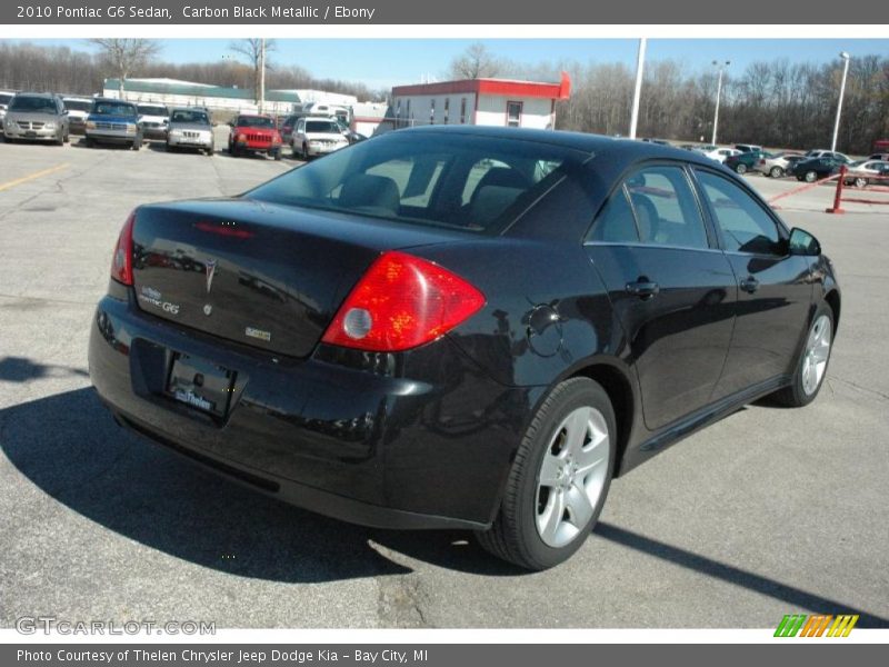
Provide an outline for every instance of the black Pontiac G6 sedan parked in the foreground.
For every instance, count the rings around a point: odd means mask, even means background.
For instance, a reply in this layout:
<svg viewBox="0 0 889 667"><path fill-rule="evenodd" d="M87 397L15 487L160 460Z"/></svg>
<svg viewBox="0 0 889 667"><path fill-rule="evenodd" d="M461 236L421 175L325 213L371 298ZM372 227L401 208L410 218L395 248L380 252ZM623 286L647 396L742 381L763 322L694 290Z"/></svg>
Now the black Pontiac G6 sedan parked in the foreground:
<svg viewBox="0 0 889 667"><path fill-rule="evenodd" d="M90 374L118 422L241 482L542 569L612 477L810 402L839 316L818 241L707 158L422 128L139 207Z"/></svg>

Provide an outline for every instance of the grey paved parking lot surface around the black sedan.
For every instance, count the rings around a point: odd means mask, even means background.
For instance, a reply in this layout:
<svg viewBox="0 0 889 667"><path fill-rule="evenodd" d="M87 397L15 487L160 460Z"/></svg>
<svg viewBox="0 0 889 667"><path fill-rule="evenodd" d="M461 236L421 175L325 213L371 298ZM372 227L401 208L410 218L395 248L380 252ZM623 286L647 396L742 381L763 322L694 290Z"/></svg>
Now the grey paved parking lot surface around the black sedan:
<svg viewBox="0 0 889 667"><path fill-rule="evenodd" d="M889 627L889 207L826 215L828 187L781 202L843 290L818 399L748 406L656 457L615 482L575 558L526 574L467 534L371 530L242 489L121 430L90 389L92 310L127 213L294 161L73 139L0 145L0 626L773 628L799 611Z"/></svg>

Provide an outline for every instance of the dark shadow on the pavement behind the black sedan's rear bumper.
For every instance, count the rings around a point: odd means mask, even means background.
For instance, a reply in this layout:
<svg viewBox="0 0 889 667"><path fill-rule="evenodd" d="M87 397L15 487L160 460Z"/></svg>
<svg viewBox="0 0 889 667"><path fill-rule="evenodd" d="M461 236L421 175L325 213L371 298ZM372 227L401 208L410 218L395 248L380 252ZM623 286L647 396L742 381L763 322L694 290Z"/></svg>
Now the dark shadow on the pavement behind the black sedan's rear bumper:
<svg viewBox="0 0 889 667"><path fill-rule="evenodd" d="M521 573L483 554L468 534L362 528L222 479L117 426L92 388L2 409L0 434L12 465L59 502L217 570L288 583L412 571L391 550L472 573Z"/></svg>

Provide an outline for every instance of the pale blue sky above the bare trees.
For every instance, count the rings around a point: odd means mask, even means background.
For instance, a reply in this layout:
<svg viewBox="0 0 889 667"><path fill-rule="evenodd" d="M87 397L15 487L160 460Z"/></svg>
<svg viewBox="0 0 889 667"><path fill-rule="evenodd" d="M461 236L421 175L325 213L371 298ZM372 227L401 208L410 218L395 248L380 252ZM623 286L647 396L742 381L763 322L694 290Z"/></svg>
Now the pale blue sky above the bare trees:
<svg viewBox="0 0 889 667"><path fill-rule="evenodd" d="M20 41L20 40L8 40ZM27 40L34 43L64 44L78 50L92 50L84 40ZM231 56L228 39L160 40L161 58L171 62L221 60ZM360 81L370 88L388 88L412 83L423 77L441 78L450 61L473 41L482 41L490 51L510 60L541 61L590 60L623 62L635 67L636 39L486 39L486 40L412 40L412 39L293 39L276 40L272 61L299 64L318 78ZM648 59L671 58L689 69L700 71L713 60L731 60L729 71L740 72L756 60L787 58L790 61L837 61L839 52L852 57L880 54L889 57L889 39L651 39Z"/></svg>

